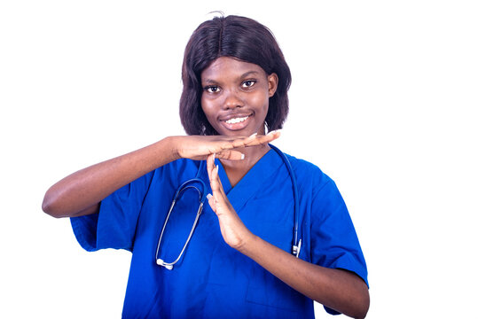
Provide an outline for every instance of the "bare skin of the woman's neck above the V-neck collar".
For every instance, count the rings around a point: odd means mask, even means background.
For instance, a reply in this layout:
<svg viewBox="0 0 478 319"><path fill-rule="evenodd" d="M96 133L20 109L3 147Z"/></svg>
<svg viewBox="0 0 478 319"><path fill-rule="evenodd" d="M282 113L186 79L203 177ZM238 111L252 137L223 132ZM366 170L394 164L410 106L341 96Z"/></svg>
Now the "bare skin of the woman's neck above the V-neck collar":
<svg viewBox="0 0 478 319"><path fill-rule="evenodd" d="M221 164L226 171L231 186L234 187L255 166L255 163L261 159L265 153L269 152L268 144L251 147L243 147L237 151L242 152L245 157L242 160L221 159Z"/></svg>

